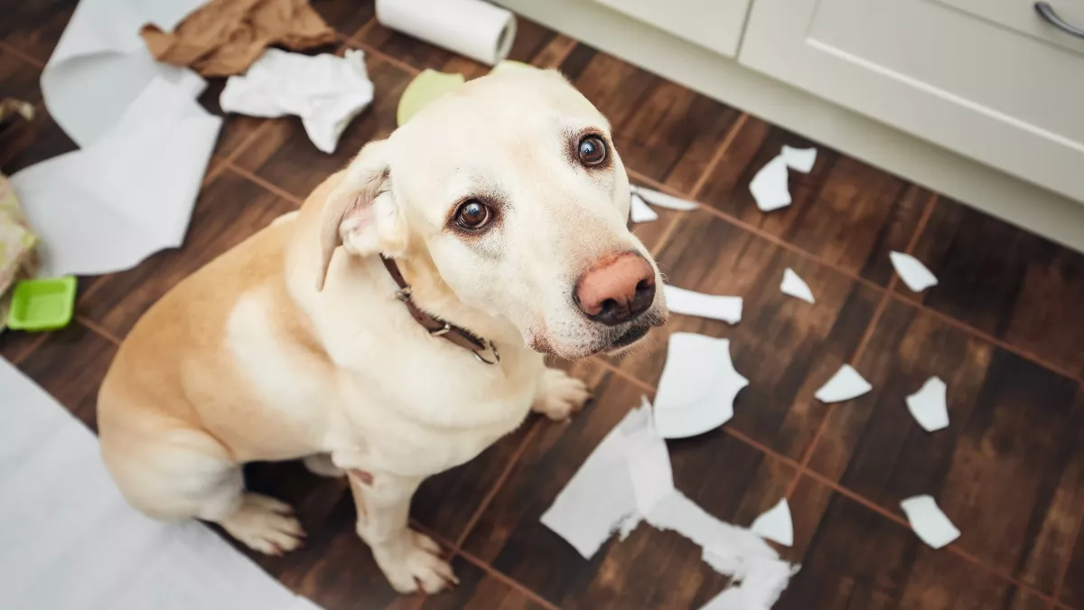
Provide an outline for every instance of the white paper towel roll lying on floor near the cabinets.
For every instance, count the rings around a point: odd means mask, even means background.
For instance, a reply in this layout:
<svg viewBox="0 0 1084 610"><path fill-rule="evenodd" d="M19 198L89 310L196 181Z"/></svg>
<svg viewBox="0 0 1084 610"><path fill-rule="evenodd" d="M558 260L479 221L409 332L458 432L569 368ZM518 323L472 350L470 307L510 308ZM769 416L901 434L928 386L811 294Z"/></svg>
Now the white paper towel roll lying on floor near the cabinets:
<svg viewBox="0 0 1084 610"><path fill-rule="evenodd" d="M516 37L516 16L481 0L376 0L376 21L489 65Z"/></svg>

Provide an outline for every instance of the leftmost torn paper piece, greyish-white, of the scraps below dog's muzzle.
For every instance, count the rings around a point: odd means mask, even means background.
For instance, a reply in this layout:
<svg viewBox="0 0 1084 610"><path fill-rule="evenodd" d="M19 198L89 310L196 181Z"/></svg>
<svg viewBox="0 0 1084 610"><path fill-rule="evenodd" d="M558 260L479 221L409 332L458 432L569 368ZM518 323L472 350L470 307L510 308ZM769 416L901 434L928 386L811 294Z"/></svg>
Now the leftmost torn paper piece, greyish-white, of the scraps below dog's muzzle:
<svg viewBox="0 0 1084 610"><path fill-rule="evenodd" d="M637 417L643 415L629 411L542 514L542 524L565 538L584 559L591 559L615 531L627 534L640 520L622 431L624 421Z"/></svg>

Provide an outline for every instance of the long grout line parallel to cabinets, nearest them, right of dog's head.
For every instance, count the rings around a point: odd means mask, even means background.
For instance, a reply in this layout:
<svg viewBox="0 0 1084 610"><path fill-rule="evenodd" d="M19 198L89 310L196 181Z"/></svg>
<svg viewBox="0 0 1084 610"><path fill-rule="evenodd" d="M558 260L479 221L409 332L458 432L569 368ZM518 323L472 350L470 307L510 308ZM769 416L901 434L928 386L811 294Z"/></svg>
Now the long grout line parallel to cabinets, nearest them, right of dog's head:
<svg viewBox="0 0 1084 610"><path fill-rule="evenodd" d="M678 189L674 189L673 187L670 187L668 185L663 185L662 182L659 182L658 180L655 180L655 179L651 179L651 178L649 178L647 176L644 176L644 175L642 175L638 171L635 171L633 169L629 169L628 171L629 171L629 176L630 177L634 178L635 180L637 180L640 182L644 182L644 183L650 186L651 188L658 189L660 191L669 192L670 194L672 194L674 196L686 198L686 195L682 194L681 191L679 191ZM774 243L775 245L778 245L779 247L783 247L783 249L785 249L787 251L790 251L790 252L792 252L792 253L795 253L795 254L797 254L797 255L799 255L799 256L801 256L803 258L806 258L809 260L813 260L815 263L818 263L818 264L821 264L821 265L823 265L823 266L825 266L825 267L827 267L829 269L833 269L834 271L836 271L836 272L838 272L838 274L847 277L848 279L850 279L852 281L856 281L856 282L859 282L859 283L861 283L861 284L863 284L863 285L865 285L865 287L867 287L869 289L877 290L877 291L880 291L880 292L887 292L885 287L882 287L882 285L880 285L880 284L878 284L878 283L876 283L874 281L870 281L870 280L868 280L866 278L863 278L862 276L859 276L859 275L854 274L853 271L847 270L847 269L844 269L844 268L842 268L842 267L840 267L838 265L829 263L828 260L825 260L825 259L821 258L820 256L817 256L817 255L815 255L815 254L813 254L811 252L802 250L802 249L800 249L800 247L798 247L798 246L796 246L796 245L793 245L793 244L791 244L791 243L789 243L789 242L787 242L787 241L785 241L785 240L783 240L780 238L777 238L777 237L775 237L775 236L773 236L773 234L771 234L771 233L769 233L766 231L763 231L762 229L760 229L758 227L754 227L754 226L752 226L752 225L750 225L750 224L748 224L748 223L746 223L744 220L740 220L740 219L738 219L738 218L736 218L734 216L731 216L730 214L726 214L725 212L717 209L717 208L714 208L714 207L712 207L712 206L710 206L710 205L708 205L706 203L699 202L699 201L694 201L694 203L696 203L699 206L700 211L706 212L708 214L711 214L712 216L715 216L720 220L723 220L725 223L734 225L735 227L737 227L739 229L743 229L743 230L746 230L746 231L748 231L750 233L753 233L753 234L756 234L756 236L758 236L758 237L760 237L762 239L765 239L765 240ZM1038 357L1037 355L1035 355L1035 354L1033 354L1033 353L1031 353L1031 352L1029 352L1027 350L1023 350L1023 348L1018 347L1016 345L1012 345L1012 344L1010 344L1010 343L1008 343L1006 341L997 339L997 338L995 338L995 336L993 336L993 335L991 335L991 334L989 334L989 333L986 333L986 332L984 332L982 330L979 330L979 329L977 329L977 328L968 325L965 321L957 320L956 318L953 318L952 316L950 316L947 314L943 314L941 312L938 312L937 309L933 309L932 307L926 305L925 303L907 298L907 296L905 294L901 294L900 292L896 292L894 290L890 294L891 294L892 298L894 298L896 301L901 301L903 303L906 303L906 304L908 304L908 305L911 305L911 306L919 309L920 312L924 312L926 314L934 316L935 318L938 318L938 319L940 319L942 321L946 321L946 322L951 323L952 326L954 326L954 327L958 328L959 330L963 330L963 331L971 334L972 336L975 336L977 339L980 339L982 341L986 341L988 343L992 343L993 345L995 345L997 347L1001 347L1002 350L1005 350L1006 352L1015 354L1015 355L1017 355L1017 356L1019 356L1019 357L1021 357L1021 358L1023 358L1025 360L1029 360L1029 361L1031 361L1031 363L1033 363L1035 365L1038 365L1038 366L1041 366L1041 367L1043 367L1045 369L1048 369L1051 372L1055 372L1055 373L1060 374L1062 377L1067 377L1067 378L1069 378L1069 379L1071 379L1071 380L1073 380L1073 381L1075 381L1077 383L1084 383L1084 374L1077 374L1077 373L1068 371L1068 370L1061 368L1060 366L1055 365L1054 363L1049 363L1047 360L1044 360L1043 358Z"/></svg>

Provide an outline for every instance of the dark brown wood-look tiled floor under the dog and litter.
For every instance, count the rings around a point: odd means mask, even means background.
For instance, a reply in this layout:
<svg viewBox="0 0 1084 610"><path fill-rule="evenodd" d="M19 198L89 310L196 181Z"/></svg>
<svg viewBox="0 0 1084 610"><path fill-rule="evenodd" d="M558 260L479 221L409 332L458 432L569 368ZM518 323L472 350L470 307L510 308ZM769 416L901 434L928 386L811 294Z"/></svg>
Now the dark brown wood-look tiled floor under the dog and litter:
<svg viewBox="0 0 1084 610"><path fill-rule="evenodd" d="M38 77L73 4L4 9L0 92L43 111ZM387 135L421 68L486 72L380 27L371 3L315 4L340 47L366 52L376 85L340 152L318 152L296 119L231 117L184 247L81 278L78 322L64 331L0 335L0 354L89 425L118 341L177 280ZM666 332L687 330L731 338L751 384L724 429L670 444L676 482L740 524L789 498L795 546L784 556L804 567L776 608L1084 609L1084 256L825 147L813 171L791 174L793 205L761 214L752 174L782 143L810 142L535 24L520 23L513 56L559 67L609 116L635 181L702 204L637 230L672 282L741 295L746 317L735 327L678 317L649 348L576 365L597 398L570 425L532 419L428 481L413 518L454 557L463 583L453 593L397 597L353 534L345 485L296 463L251 468L251 486L294 503L310 533L302 550L256 558L261 565L328 609L699 607L724 582L680 536L642 528L586 562L539 523L606 431L654 391ZM204 97L208 107L221 86ZM0 139L0 167L73 149L42 112ZM909 293L892 250L918 256L941 284ZM779 293L786 267L809 282L815 306ZM843 363L874 391L838 406L814 401ZM932 435L903 402L931 374L947 382L952 414ZM907 529L899 500L920 493L963 530L952 546L931 550Z"/></svg>

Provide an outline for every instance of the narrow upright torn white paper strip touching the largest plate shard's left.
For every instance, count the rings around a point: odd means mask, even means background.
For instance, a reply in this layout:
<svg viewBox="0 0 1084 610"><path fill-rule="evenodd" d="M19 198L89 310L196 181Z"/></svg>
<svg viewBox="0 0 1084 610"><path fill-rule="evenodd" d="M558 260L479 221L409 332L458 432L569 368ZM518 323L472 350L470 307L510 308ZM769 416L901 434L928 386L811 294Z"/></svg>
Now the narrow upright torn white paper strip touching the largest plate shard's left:
<svg viewBox="0 0 1084 610"><path fill-rule="evenodd" d="M674 476L667 442L655 429L651 405L646 396L641 398L640 408L633 409L618 428L624 434L624 455L636 497L636 510L647 514L659 501L674 493Z"/></svg>

